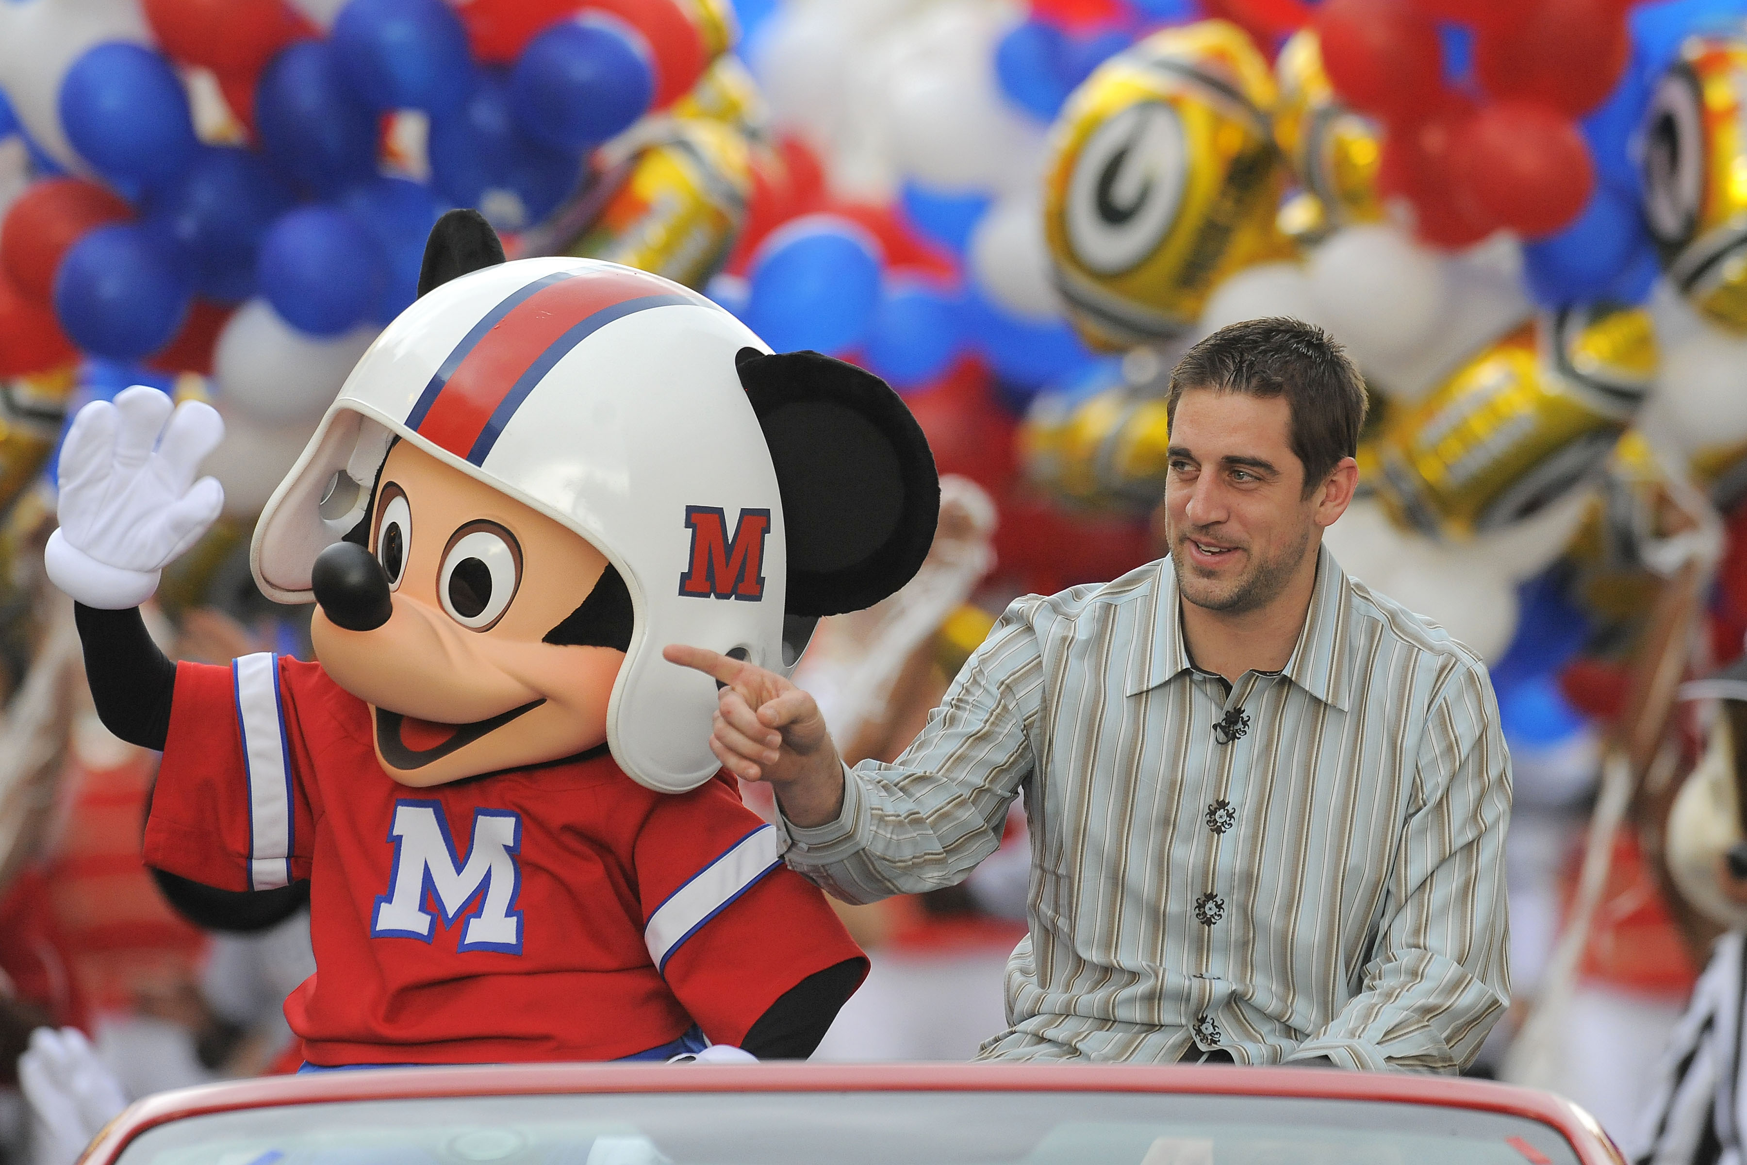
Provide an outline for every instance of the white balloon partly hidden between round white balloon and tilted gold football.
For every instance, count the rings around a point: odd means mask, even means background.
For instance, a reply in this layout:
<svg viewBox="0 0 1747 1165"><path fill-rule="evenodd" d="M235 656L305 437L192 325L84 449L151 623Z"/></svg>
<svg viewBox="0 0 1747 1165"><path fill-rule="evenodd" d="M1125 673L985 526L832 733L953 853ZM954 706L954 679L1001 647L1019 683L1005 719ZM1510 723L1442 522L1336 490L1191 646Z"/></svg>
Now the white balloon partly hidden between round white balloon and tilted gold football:
<svg viewBox="0 0 1747 1165"><path fill-rule="evenodd" d="M1445 309L1419 349L1370 353L1366 377L1392 400L1412 403L1464 360L1534 314L1520 278L1490 262L1445 260Z"/></svg>

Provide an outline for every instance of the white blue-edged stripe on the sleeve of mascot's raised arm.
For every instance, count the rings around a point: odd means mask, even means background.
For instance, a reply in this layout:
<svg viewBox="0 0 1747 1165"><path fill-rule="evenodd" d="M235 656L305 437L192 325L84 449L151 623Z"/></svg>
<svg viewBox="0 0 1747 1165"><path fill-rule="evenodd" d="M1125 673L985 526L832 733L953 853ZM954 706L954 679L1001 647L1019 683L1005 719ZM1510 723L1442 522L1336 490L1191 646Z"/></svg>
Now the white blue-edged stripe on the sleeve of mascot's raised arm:
<svg viewBox="0 0 1747 1165"><path fill-rule="evenodd" d="M236 720L248 774L248 880L257 891L292 880L292 765L280 707L280 664L273 651L232 660Z"/></svg>

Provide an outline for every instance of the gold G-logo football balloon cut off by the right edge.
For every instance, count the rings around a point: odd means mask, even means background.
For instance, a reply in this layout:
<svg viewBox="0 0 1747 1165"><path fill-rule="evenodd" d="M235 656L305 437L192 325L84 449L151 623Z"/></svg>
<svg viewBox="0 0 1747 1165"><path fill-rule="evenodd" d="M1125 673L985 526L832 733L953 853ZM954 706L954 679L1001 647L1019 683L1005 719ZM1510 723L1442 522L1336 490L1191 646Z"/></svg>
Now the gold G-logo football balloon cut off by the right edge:
<svg viewBox="0 0 1747 1165"><path fill-rule="evenodd" d="M1747 332L1747 31L1693 37L1644 119L1644 217L1663 269L1710 320Z"/></svg>

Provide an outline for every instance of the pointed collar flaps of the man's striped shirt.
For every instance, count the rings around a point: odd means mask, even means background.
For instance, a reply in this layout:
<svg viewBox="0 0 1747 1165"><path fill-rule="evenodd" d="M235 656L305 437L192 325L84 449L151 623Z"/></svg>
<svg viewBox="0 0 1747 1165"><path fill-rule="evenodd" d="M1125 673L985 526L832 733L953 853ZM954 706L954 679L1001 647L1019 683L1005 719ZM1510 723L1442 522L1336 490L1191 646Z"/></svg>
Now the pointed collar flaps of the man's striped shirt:
<svg viewBox="0 0 1747 1165"><path fill-rule="evenodd" d="M1146 653L1137 653L1129 667L1125 686L1129 695L1157 688L1193 667L1188 643L1183 639L1177 573L1169 555L1158 561L1158 573L1150 585L1153 643ZM1352 685L1350 590L1347 573L1340 569L1328 547L1317 550L1310 610L1298 632L1298 645L1281 672L1315 699L1342 711L1347 711Z"/></svg>

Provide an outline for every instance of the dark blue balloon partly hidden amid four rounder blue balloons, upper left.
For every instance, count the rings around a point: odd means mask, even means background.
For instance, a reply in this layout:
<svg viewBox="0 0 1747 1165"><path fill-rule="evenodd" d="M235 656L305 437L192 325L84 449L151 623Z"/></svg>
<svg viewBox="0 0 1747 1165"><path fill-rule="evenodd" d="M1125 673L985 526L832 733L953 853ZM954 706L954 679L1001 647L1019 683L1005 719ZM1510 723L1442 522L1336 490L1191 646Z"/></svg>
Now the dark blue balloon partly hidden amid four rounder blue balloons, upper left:
<svg viewBox="0 0 1747 1165"><path fill-rule="evenodd" d="M295 199L253 150L203 145L150 203L147 222L189 255L194 285L218 302L255 293L255 253Z"/></svg>

